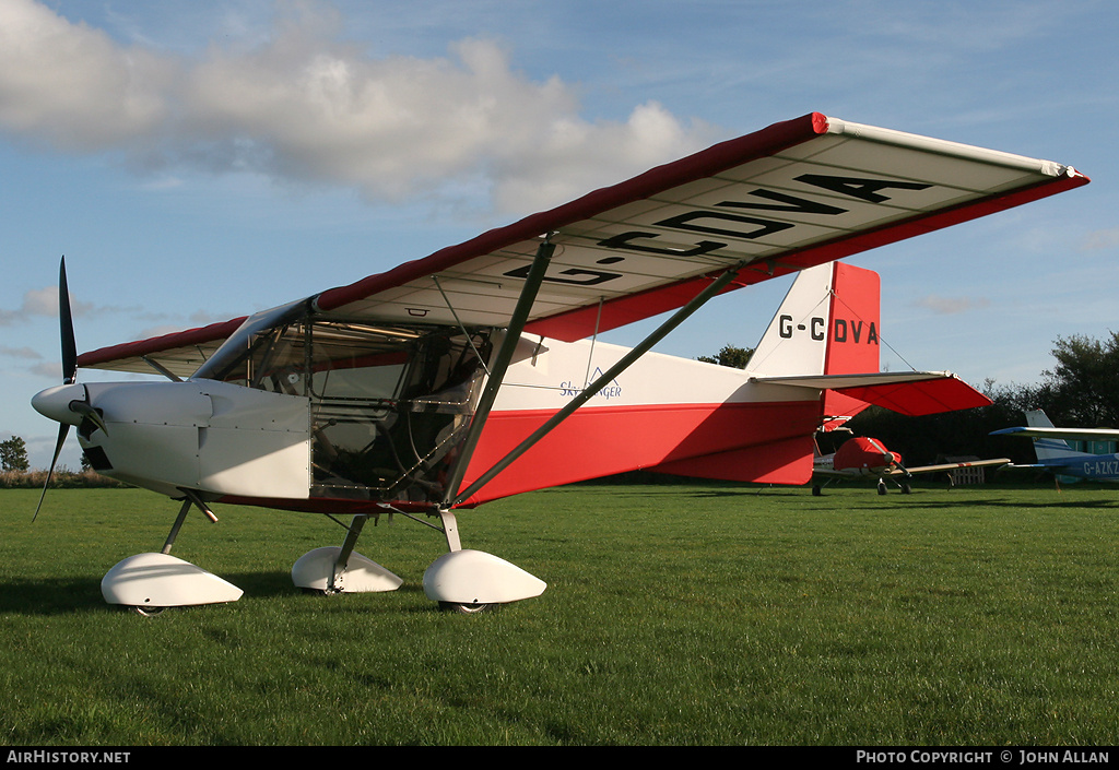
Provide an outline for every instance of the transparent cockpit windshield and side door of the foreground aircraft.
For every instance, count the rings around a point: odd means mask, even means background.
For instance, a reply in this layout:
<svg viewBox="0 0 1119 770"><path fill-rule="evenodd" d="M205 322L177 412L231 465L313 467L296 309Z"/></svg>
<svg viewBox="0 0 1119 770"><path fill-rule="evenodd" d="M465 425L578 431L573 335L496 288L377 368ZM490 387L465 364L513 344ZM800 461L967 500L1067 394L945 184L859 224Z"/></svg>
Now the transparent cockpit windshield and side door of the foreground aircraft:
<svg viewBox="0 0 1119 770"><path fill-rule="evenodd" d="M194 378L309 398L312 495L438 500L490 349L488 330L329 318L295 302L247 319Z"/></svg>

